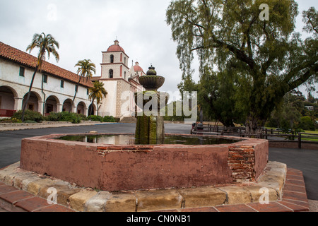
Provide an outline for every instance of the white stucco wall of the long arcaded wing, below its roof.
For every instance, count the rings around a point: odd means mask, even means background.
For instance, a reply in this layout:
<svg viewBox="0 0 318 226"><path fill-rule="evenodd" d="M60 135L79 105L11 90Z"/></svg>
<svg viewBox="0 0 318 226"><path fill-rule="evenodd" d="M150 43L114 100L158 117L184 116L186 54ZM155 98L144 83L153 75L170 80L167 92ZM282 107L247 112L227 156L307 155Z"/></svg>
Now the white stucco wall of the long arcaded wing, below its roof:
<svg viewBox="0 0 318 226"><path fill-rule="evenodd" d="M24 66L23 66L24 67ZM13 104L6 103L7 98L1 95L1 105L4 102L4 106L8 109L19 110L22 109L23 97L28 93L29 85L34 73L33 69L25 68L25 76L19 76L20 65L7 61L5 59L0 59L0 89L1 86L6 86L13 90L15 95L15 102ZM73 95L75 94L76 83L64 80L64 88L61 88L61 80L63 78L58 78L57 76L47 75L47 83L43 83L42 90L42 73L37 73L35 76L35 81L33 83L32 92L37 96L38 106L37 110L43 113L43 104L48 97L57 97L57 104L63 105L65 100L73 100ZM77 112L77 105L80 102L85 104L85 108L90 106L90 100L88 100L87 89L85 86L80 85L78 88L78 93L76 95L75 107L73 107L72 112ZM30 102L35 103L36 100L31 98ZM29 103L30 103L29 102ZM83 108L83 107L82 107ZM62 107L54 106L55 111L59 111Z"/></svg>

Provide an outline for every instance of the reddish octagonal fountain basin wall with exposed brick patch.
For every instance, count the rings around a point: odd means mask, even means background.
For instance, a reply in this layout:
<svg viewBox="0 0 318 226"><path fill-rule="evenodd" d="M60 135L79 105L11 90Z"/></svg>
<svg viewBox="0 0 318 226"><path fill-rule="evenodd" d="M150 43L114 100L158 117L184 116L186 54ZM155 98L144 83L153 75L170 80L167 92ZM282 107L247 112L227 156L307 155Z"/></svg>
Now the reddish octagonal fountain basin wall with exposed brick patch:
<svg viewBox="0 0 318 226"><path fill-rule="evenodd" d="M269 142L252 138L220 145L101 145L54 139L61 136L23 139L20 167L124 191L254 182L269 160Z"/></svg>

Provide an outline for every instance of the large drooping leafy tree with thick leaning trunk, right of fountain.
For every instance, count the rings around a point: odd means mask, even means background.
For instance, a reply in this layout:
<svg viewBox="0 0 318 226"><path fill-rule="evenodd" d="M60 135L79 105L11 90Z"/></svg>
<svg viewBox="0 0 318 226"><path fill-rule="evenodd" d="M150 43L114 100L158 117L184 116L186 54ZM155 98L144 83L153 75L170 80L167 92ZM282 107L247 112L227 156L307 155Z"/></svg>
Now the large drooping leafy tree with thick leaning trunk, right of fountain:
<svg viewBox="0 0 318 226"><path fill-rule="evenodd" d="M269 20L260 17L261 4L269 6ZM235 109L245 116L247 133L257 134L288 91L317 76L317 37L301 40L297 15L293 0L176 0L167 24L183 78L194 52L201 77L235 74Z"/></svg>

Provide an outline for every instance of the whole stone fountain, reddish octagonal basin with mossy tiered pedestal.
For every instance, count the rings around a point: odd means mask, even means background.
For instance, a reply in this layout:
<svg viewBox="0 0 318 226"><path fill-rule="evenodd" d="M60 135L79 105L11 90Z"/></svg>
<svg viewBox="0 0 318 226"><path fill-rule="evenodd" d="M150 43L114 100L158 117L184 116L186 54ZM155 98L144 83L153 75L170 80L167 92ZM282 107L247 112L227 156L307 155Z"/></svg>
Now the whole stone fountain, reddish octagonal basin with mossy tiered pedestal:
<svg viewBox="0 0 318 226"><path fill-rule="evenodd" d="M157 76L151 66L139 82L145 91L135 93L136 104L143 109L138 112L135 134L96 133L95 138L87 133L52 134L25 138L20 168L103 191L240 184L255 182L264 172L269 160L266 140L178 134L187 141L216 138L226 142L204 145L166 142L176 134L165 134L160 115L160 108L165 107L169 99L167 93L158 92L165 78ZM71 136L83 141L64 138ZM88 143L98 136L111 136L120 141L131 136L136 142Z"/></svg>

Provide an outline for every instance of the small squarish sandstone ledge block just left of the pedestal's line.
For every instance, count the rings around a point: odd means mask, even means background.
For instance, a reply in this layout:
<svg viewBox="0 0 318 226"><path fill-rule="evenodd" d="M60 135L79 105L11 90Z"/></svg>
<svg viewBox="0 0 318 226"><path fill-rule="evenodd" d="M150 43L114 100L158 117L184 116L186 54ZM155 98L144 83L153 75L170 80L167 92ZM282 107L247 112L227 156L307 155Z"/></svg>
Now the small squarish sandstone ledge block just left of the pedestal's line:
<svg viewBox="0 0 318 226"><path fill-rule="evenodd" d="M105 212L136 212L134 194L112 194L107 199Z"/></svg>

